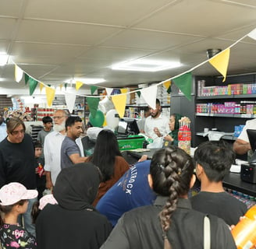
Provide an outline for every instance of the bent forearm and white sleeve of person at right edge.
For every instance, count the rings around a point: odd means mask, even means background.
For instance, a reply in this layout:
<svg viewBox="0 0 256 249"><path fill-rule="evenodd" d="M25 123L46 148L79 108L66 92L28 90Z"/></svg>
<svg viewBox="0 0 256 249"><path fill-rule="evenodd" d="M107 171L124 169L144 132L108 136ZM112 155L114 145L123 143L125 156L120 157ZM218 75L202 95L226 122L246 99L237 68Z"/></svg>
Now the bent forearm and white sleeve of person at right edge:
<svg viewBox="0 0 256 249"><path fill-rule="evenodd" d="M233 150L236 154L244 155L251 150L251 145L247 136L247 129L256 130L256 118L246 122L243 131L233 143Z"/></svg>

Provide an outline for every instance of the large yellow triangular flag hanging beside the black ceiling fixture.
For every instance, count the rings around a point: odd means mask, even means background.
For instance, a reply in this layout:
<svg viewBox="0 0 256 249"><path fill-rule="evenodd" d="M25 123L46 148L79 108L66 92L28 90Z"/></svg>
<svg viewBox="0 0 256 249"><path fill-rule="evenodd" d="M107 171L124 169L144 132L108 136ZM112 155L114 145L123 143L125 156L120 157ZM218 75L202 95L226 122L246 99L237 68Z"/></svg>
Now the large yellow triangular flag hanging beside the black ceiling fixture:
<svg viewBox="0 0 256 249"><path fill-rule="evenodd" d="M213 58L209 59L209 63L212 64L224 77L222 82L226 80L226 72L229 65L230 48L220 52Z"/></svg>

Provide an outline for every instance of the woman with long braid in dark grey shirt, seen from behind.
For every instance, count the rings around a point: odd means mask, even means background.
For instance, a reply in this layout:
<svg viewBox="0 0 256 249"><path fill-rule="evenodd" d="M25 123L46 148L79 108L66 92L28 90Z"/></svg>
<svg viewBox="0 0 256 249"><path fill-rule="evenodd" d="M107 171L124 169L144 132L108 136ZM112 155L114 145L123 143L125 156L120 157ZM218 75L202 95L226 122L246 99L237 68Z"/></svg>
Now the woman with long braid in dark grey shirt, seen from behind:
<svg viewBox="0 0 256 249"><path fill-rule="evenodd" d="M187 198L195 181L193 172L193 160L182 149L159 149L148 175L148 183L158 195L154 205L126 212L101 248L235 249L229 227L215 216L209 216L205 240L209 247L204 246L205 215L191 209Z"/></svg>

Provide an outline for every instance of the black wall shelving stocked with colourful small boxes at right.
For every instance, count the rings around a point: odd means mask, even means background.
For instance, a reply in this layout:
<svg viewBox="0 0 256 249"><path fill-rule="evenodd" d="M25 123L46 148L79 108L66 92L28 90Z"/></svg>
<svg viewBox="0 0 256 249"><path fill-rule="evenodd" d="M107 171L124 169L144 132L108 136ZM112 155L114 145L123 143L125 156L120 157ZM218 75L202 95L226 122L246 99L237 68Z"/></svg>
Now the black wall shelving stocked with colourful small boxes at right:
<svg viewBox="0 0 256 249"><path fill-rule="evenodd" d="M229 89L240 86L234 93L240 94L219 94L212 96L201 96L201 82L204 80L206 87L216 88L228 86ZM242 92L242 86L255 86L256 74L227 76L222 82L222 77L200 77L195 76L194 87L198 94L195 97L195 118L194 118L194 146L204 142L208 138L200 134L204 128L217 128L220 132L234 132L236 126L245 125L246 121L256 117L256 94ZM246 91L245 89L244 91ZM242 94L241 94L242 93ZM203 109L201 109L203 108ZM233 142L236 137L223 136L222 139Z"/></svg>

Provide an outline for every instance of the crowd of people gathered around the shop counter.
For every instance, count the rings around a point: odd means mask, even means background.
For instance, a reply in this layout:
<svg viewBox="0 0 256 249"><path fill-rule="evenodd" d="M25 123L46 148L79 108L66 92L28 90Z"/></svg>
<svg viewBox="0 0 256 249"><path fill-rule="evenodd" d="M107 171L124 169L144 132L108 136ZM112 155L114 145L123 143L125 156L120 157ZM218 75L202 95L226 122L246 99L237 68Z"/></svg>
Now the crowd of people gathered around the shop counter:
<svg viewBox="0 0 256 249"><path fill-rule="evenodd" d="M149 110L145 132L162 122L159 103ZM98 133L93 153L84 156L83 122L65 110L44 118L37 142L23 121L10 118L0 142L2 248L236 248L230 226L247 206L222 186L233 149L204 142L193 159L177 147L181 117L172 114L168 127L153 128L168 146L134 165L110 129ZM189 198L195 181L201 191Z"/></svg>

